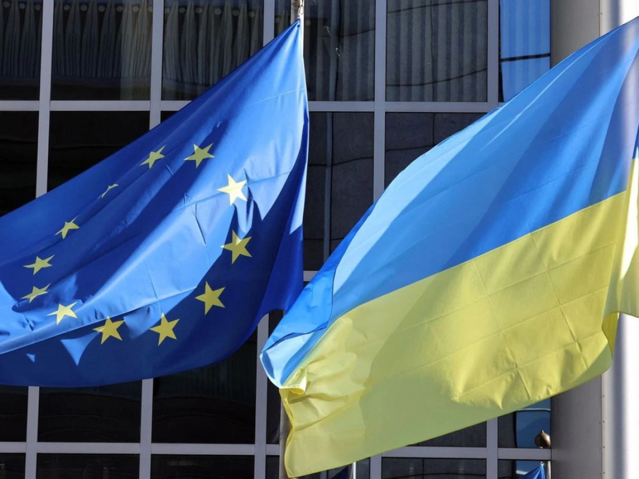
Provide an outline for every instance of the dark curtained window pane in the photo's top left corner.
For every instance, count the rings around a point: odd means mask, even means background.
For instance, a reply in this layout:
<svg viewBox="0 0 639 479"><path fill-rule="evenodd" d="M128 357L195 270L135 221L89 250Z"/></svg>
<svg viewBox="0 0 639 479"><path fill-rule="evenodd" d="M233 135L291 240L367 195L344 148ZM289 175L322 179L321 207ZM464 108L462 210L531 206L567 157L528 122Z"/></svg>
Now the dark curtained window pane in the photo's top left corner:
<svg viewBox="0 0 639 479"><path fill-rule="evenodd" d="M0 100L37 100L42 0L4 0L0 13Z"/></svg>

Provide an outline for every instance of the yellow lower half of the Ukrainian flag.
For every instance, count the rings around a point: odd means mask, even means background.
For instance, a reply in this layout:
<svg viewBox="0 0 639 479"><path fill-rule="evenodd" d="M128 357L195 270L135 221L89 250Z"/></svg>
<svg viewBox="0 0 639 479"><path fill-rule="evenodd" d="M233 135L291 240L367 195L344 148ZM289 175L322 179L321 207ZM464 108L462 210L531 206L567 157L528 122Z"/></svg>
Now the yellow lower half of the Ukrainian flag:
<svg viewBox="0 0 639 479"><path fill-rule="evenodd" d="M340 317L280 391L289 476L495 418L604 372L602 322L620 306L608 287L633 276L613 271L629 194ZM636 301L625 306L636 315Z"/></svg>

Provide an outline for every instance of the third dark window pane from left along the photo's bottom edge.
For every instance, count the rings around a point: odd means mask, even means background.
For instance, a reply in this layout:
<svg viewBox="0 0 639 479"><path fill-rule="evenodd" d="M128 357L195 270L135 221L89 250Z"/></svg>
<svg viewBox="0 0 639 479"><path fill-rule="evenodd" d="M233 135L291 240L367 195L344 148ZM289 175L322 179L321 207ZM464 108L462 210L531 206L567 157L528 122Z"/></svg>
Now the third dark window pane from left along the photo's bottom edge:
<svg viewBox="0 0 639 479"><path fill-rule="evenodd" d="M236 479L254 476L252 456L151 456L153 479Z"/></svg>

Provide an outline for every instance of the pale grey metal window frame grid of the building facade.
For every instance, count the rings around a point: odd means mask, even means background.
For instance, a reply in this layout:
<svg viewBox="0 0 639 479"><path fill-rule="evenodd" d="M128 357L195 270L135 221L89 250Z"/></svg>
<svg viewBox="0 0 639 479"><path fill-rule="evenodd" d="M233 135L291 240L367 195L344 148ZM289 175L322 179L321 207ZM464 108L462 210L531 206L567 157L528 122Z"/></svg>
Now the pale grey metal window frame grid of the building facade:
<svg viewBox="0 0 639 479"><path fill-rule="evenodd" d="M264 0L264 43L274 35L275 1ZM164 36L164 0L153 0L151 28L150 100L73 101L51 100L52 44L54 0L43 0L42 56L40 68L39 100L0 100L0 111L38 111L38 147L36 196L47 191L49 153L49 118L51 111L148 111L150 128L160 123L162 111L176 111L186 101L162 100L162 45ZM370 102L315 101L309 103L311 111L318 112L372 112L374 113L373 198L384 189L385 117L390 112L419 113L487 113L498 106L498 42L499 0L488 0L488 101L486 102L387 102L386 94L386 17L387 0L375 3L375 99ZM308 281L315 271L305 271ZM258 351L268 337L268 317L258 326ZM166 444L151 442L153 379L142 381L141 423L139 443L45 443L38 442L38 407L40 388L30 387L27 397L26 441L0 442L1 453L24 453L25 477L36 478L38 453L99 453L139 455L139 478L151 478L151 455L250 455L254 457L254 477L265 477L266 457L279 455L279 445L266 443L266 388L267 378L256 362L256 424L254 444ZM484 459L486 478L497 479L498 460L550 460L551 450L498 448L497 420L488 421L485 448L421 447L410 446L371 457L370 478L381 479L383 457L418 457L447 459Z"/></svg>

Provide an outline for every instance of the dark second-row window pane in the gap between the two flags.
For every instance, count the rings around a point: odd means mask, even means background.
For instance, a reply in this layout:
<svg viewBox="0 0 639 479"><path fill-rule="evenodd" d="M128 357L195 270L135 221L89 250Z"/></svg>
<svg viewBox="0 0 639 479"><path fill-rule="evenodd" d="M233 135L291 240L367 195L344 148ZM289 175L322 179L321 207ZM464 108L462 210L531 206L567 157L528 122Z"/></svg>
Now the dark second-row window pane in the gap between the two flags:
<svg viewBox="0 0 639 479"><path fill-rule="evenodd" d="M304 269L318 270L373 203L373 113L311 113Z"/></svg>

